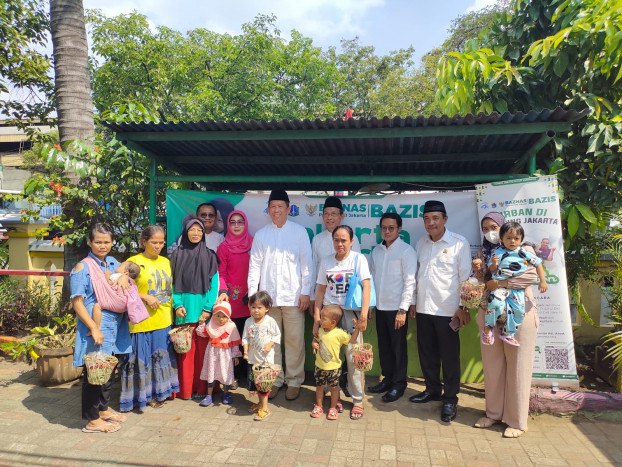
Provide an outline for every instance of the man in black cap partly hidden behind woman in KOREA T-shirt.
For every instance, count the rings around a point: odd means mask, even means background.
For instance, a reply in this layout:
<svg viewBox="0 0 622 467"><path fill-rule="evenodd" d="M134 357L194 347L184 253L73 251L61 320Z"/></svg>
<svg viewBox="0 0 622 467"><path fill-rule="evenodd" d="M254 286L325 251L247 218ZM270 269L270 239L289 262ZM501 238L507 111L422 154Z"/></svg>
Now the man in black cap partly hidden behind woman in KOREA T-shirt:
<svg viewBox="0 0 622 467"><path fill-rule="evenodd" d="M314 302L315 302L315 291L317 289L317 284L315 283L315 279L317 279L317 273L320 270L320 263L325 256L334 255L335 247L333 246L333 230L340 225L345 218L345 214L343 212L343 204L341 200L336 196L329 196L324 201L324 208L322 209L322 221L324 222L324 227L326 230L323 230L321 233L317 234L313 237L311 241L311 251L313 252L313 286L311 288L311 306L309 307L309 313L313 316ZM359 244L356 235L354 236L351 251L356 251L358 253L361 252L361 245Z"/></svg>

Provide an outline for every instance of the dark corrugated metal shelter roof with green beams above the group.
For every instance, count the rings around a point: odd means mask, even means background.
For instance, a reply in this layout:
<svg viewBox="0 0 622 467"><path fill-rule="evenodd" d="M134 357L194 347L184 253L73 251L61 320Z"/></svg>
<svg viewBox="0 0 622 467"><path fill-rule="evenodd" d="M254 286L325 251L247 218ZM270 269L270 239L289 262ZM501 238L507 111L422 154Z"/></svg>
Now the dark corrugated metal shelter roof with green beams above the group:
<svg viewBox="0 0 622 467"><path fill-rule="evenodd" d="M542 135L567 132L584 115L556 108L428 118L105 125L181 175L211 176L207 184L214 189L357 190L388 182L407 190L414 189L409 180L451 188L526 173L525 154ZM435 178L419 182L422 175Z"/></svg>

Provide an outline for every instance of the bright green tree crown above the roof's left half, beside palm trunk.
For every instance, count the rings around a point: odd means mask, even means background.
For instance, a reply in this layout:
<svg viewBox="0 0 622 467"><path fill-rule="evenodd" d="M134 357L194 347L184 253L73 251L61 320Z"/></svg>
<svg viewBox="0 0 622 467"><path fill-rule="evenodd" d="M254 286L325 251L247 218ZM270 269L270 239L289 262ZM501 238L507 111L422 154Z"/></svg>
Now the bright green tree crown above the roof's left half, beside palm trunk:
<svg viewBox="0 0 622 467"><path fill-rule="evenodd" d="M332 115L336 69L309 38L286 42L274 16L259 15L231 36L206 29L186 35L149 29L136 12L89 12L93 94L98 109L128 100L166 120L250 120Z"/></svg>

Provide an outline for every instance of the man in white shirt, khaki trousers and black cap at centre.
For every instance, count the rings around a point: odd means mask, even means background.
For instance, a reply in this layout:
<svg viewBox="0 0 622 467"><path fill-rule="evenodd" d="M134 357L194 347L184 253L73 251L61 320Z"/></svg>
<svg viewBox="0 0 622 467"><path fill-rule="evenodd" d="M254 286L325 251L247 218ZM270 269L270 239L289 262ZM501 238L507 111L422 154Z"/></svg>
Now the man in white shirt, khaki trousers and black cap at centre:
<svg viewBox="0 0 622 467"><path fill-rule="evenodd" d="M309 235L304 227L287 220L289 197L284 190L273 190L268 200L272 222L255 234L248 270L248 295L264 290L272 297L269 315L275 319L284 337L286 374L274 383L269 398L287 384L285 398L300 394L305 378L305 315L314 282ZM283 363L281 346L275 347L275 363Z"/></svg>

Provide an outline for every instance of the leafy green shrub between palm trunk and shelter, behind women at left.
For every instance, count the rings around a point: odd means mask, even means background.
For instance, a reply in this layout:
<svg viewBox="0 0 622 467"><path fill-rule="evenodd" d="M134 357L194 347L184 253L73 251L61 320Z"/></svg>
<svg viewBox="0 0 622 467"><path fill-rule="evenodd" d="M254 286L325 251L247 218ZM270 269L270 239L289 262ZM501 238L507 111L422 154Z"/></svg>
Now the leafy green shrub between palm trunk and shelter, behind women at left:
<svg viewBox="0 0 622 467"><path fill-rule="evenodd" d="M159 121L158 117L140 104L115 104L113 110L102 114L108 121ZM33 175L24 185L21 198L29 201L31 209L25 209L24 220L40 217L43 206L71 204L79 215L63 210L61 216L53 216L48 230L66 232L55 237L59 244L84 245L87 229L95 222L106 222L117 232L115 249L127 253L138 244L142 229L149 216L149 159L128 149L103 129L93 142L71 141L63 150L59 145L44 143L39 157L46 166L46 173ZM79 176L72 182L66 173ZM163 199L164 186L159 189L158 199ZM164 207L159 205L160 213Z"/></svg>

